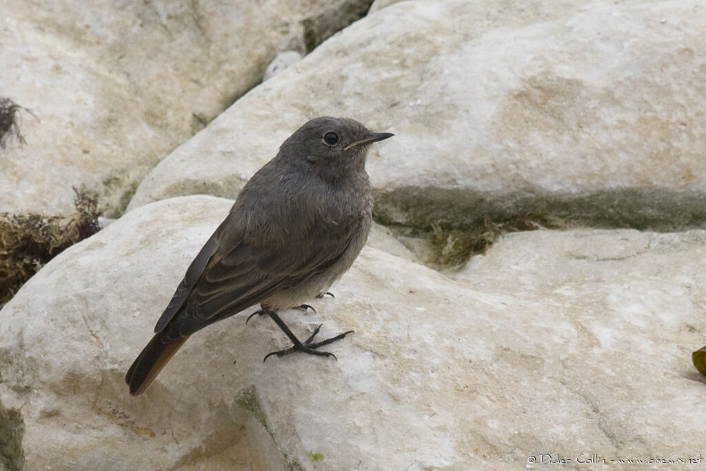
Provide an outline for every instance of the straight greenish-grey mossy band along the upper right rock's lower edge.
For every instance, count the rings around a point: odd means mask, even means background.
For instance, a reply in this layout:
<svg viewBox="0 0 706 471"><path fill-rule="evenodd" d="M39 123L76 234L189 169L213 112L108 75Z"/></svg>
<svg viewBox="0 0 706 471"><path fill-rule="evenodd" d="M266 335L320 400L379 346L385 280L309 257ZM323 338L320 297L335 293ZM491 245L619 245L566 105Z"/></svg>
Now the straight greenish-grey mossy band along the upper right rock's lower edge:
<svg viewBox="0 0 706 471"><path fill-rule="evenodd" d="M530 219L554 227L633 228L674 231L706 224L706 196L693 191L615 188L590 193L542 189L491 193L409 186L377 191L373 215L384 225L423 231L433 223L471 231L485 219L505 223Z"/></svg>

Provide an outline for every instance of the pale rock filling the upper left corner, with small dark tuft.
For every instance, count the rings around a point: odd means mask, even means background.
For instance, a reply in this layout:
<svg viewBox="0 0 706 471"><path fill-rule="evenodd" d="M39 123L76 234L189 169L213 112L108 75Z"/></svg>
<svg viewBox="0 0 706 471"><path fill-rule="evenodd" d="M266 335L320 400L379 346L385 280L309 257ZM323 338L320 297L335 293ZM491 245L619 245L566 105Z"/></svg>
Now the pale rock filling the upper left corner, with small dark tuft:
<svg viewBox="0 0 706 471"><path fill-rule="evenodd" d="M3 1L0 92L39 121L20 112L27 143L0 150L0 210L68 213L76 186L121 213L152 166L259 83L277 52L306 52L369 4Z"/></svg>

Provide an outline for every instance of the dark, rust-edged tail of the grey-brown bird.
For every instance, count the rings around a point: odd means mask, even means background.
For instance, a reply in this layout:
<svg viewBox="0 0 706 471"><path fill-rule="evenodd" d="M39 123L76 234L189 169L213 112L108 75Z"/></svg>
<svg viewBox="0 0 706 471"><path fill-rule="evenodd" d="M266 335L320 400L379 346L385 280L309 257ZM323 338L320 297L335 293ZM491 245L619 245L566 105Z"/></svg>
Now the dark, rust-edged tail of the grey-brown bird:
<svg viewBox="0 0 706 471"><path fill-rule="evenodd" d="M140 395L150 386L152 380L162 371L169 359L184 345L186 337L168 340L163 333L157 333L143 348L125 375L125 382L130 386L132 395Z"/></svg>

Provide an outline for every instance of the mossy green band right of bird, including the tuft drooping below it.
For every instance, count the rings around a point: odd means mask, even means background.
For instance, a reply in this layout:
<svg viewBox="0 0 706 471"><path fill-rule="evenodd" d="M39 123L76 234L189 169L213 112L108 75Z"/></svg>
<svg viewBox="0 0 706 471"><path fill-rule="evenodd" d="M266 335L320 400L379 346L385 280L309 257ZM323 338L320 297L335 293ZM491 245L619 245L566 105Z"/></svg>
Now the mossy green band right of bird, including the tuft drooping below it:
<svg viewBox="0 0 706 471"><path fill-rule="evenodd" d="M402 235L400 242L436 269L462 265L505 232L540 227L672 231L706 224L706 196L690 191L622 188L582 195L539 193L410 186L376 192L373 217ZM410 245L410 237L416 247Z"/></svg>

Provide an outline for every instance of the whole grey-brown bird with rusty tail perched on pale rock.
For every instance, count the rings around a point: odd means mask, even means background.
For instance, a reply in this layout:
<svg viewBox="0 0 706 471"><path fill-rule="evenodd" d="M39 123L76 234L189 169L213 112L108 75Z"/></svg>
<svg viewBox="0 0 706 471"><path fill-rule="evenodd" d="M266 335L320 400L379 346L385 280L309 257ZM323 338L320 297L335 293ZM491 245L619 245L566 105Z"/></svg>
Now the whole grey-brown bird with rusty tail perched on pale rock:
<svg viewBox="0 0 706 471"><path fill-rule="evenodd" d="M282 143L186 270L126 374L130 393L143 393L189 335L256 304L292 340L292 348L271 354L332 355L316 348L347 333L312 342L317 329L301 342L276 311L325 293L360 253L373 204L367 148L390 136L353 119L321 117Z"/></svg>

